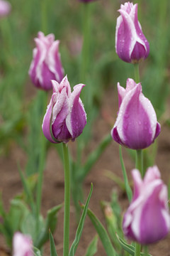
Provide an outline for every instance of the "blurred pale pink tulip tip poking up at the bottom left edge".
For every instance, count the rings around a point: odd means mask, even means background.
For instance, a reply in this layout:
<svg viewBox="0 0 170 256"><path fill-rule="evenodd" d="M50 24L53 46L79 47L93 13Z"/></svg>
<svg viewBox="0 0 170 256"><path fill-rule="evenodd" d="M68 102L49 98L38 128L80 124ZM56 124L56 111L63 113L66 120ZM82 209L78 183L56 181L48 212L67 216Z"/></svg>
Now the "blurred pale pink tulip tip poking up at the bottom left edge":
<svg viewBox="0 0 170 256"><path fill-rule="evenodd" d="M30 236L15 233L13 236L13 256L33 256L33 241Z"/></svg>

